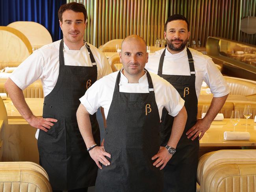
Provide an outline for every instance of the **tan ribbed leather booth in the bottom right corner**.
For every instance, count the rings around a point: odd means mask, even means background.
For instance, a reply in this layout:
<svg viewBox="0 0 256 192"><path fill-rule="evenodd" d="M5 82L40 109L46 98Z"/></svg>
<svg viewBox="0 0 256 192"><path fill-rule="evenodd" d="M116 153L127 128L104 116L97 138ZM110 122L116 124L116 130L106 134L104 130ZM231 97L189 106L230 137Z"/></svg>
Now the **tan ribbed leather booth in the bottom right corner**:
<svg viewBox="0 0 256 192"><path fill-rule="evenodd" d="M200 157L200 192L254 192L256 150L219 150Z"/></svg>

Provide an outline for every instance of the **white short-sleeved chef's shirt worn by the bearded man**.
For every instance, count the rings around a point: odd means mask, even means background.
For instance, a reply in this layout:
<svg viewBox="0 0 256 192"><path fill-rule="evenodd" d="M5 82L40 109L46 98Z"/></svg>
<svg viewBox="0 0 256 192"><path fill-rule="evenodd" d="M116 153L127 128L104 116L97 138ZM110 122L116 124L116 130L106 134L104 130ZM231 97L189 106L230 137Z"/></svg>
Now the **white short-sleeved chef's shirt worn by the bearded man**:
<svg viewBox="0 0 256 192"><path fill-rule="evenodd" d="M202 81L210 87L213 97L222 97L230 92L228 84L223 78L217 66L213 63L211 57L202 54L196 50L189 48L195 66L195 88L197 98L200 94ZM158 74L158 66L161 54L164 49L161 49L148 58L148 63L145 68L154 74ZM187 59L187 49L185 48L178 54L171 54L167 49L163 61L163 74L165 75L190 75L189 63Z"/></svg>

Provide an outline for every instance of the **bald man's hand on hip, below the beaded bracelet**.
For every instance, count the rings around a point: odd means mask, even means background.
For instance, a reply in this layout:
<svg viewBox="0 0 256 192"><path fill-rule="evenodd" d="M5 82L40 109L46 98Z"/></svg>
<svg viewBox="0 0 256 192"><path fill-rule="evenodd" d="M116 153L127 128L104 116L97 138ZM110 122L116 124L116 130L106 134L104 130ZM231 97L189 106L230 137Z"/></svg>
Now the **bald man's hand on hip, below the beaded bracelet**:
<svg viewBox="0 0 256 192"><path fill-rule="evenodd" d="M97 147L91 149L89 151L89 154L90 154L91 158L93 159L93 161L96 162L98 168L102 169L100 162L102 164L104 164L105 166L110 165L110 162L108 161L108 159L105 156L111 158L111 155L104 150L104 147L97 146Z"/></svg>

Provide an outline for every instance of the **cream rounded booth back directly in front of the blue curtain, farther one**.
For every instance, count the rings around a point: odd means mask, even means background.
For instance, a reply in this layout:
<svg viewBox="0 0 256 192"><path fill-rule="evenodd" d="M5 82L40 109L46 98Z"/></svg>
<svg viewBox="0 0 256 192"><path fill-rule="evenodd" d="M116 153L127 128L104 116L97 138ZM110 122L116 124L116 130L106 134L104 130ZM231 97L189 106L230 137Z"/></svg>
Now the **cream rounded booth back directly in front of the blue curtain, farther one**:
<svg viewBox="0 0 256 192"><path fill-rule="evenodd" d="M49 31L41 24L33 21L16 21L7 27L15 28L22 32L29 40L33 49L52 43L52 36Z"/></svg>

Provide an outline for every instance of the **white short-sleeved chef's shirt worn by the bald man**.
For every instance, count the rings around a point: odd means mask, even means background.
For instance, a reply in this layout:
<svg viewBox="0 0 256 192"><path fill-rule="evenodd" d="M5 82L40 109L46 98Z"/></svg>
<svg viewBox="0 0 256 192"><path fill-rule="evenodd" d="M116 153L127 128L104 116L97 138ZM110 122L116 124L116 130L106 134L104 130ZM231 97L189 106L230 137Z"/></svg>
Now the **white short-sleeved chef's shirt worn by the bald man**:
<svg viewBox="0 0 256 192"><path fill-rule="evenodd" d="M85 95L80 98L80 102L85 106L90 114L94 114L99 107L103 107L107 118L118 73L119 71L114 72L96 81L85 92ZM154 86L155 99L160 119L163 107L167 109L171 116L176 116L184 106L184 100L168 81L152 73L150 73L150 76ZM128 83L128 79L121 73L119 91L129 93L148 93L147 74L145 73L139 79L139 83Z"/></svg>

